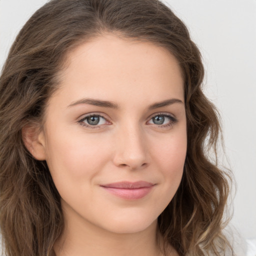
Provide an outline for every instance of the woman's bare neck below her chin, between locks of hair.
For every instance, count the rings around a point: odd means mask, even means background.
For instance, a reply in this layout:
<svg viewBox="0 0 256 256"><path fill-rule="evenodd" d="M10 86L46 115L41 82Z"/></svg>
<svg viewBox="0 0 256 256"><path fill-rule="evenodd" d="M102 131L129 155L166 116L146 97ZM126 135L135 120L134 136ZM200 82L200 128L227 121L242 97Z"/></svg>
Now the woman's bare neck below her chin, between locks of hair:
<svg viewBox="0 0 256 256"><path fill-rule="evenodd" d="M68 214L68 216L66 216ZM56 256L160 256L157 243L157 220L135 233L114 233L64 214L65 227L54 244Z"/></svg>

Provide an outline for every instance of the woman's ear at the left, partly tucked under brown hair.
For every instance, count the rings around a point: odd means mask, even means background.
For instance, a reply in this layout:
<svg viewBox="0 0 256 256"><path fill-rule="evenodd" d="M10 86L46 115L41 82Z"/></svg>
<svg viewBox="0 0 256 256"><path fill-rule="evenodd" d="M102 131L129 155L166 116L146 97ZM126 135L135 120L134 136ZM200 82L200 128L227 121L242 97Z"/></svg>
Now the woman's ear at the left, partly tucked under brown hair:
<svg viewBox="0 0 256 256"><path fill-rule="evenodd" d="M37 160L45 160L45 136L38 126L26 125L21 130L27 150Z"/></svg>

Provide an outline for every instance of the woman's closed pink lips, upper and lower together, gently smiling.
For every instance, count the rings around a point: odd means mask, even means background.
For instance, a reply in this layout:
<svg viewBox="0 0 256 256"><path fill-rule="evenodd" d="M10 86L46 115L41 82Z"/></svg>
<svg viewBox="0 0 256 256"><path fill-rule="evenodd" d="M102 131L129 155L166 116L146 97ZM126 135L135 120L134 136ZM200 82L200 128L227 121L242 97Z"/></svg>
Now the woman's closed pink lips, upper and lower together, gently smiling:
<svg viewBox="0 0 256 256"><path fill-rule="evenodd" d="M100 185L106 191L127 200L137 200L146 196L155 184L147 181L121 181Z"/></svg>

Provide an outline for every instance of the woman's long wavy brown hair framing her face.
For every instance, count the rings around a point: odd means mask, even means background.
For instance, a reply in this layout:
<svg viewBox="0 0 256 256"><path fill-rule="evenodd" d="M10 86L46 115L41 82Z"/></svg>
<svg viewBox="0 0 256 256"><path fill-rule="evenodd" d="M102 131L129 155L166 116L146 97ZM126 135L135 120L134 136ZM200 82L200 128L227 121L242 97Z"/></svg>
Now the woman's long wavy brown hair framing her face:
<svg viewBox="0 0 256 256"><path fill-rule="evenodd" d="M164 244L179 255L221 255L229 193L228 175L207 157L216 152L220 126L202 92L203 65L188 30L158 0L51 0L26 22L11 46L0 77L0 228L8 256L53 254L63 229L60 196L45 161L24 146L25 125L43 114L67 52L103 32L160 45L182 70L187 154L180 186L158 217ZM167 246L166 246L167 247Z"/></svg>

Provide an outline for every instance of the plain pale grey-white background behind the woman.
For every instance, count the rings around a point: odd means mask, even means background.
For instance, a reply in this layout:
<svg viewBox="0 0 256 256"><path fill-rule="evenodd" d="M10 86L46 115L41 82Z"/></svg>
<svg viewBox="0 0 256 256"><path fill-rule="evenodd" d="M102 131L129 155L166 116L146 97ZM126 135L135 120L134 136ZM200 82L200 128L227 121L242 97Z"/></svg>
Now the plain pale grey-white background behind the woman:
<svg viewBox="0 0 256 256"><path fill-rule="evenodd" d="M166 0L202 52L205 93L223 122L237 187L232 224L256 238L256 0ZM0 0L0 68L11 42L46 0Z"/></svg>

